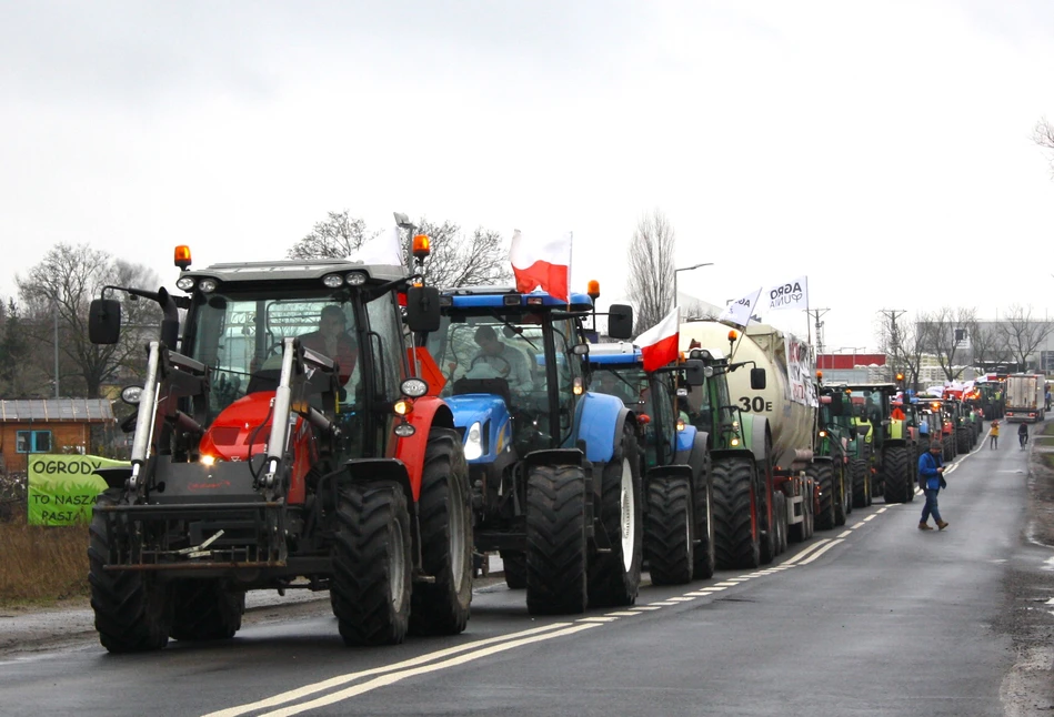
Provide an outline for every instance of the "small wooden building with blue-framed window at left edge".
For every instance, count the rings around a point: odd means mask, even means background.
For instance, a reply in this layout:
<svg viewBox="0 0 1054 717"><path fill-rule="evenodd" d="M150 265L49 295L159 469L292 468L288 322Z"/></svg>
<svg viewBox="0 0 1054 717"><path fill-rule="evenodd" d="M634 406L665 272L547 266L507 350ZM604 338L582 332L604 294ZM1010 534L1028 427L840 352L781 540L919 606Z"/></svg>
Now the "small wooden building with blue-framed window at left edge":
<svg viewBox="0 0 1054 717"><path fill-rule="evenodd" d="M0 401L0 468L23 472L34 453L91 453L92 428L116 423L106 398Z"/></svg>

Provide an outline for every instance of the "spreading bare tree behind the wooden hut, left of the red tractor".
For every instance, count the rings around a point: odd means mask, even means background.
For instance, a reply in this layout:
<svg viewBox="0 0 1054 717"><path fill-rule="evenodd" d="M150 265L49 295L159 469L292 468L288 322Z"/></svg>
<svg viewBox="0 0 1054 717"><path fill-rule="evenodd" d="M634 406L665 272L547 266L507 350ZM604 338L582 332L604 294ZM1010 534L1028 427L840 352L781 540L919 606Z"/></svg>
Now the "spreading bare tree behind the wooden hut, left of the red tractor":
<svg viewBox="0 0 1054 717"><path fill-rule="evenodd" d="M129 327L114 345L99 346L88 339L88 306L106 285L154 287L157 273L139 264L114 261L107 252L87 244L56 244L43 260L16 277L27 314L27 333L42 350L36 360L50 368L58 354L59 375L51 370L50 390L29 387L34 395L49 395L59 382L68 396L99 397L102 386L122 371L141 371L143 339L157 335L160 310L149 301L124 301L122 316ZM123 295L121 299L127 299ZM58 341L56 341L58 339Z"/></svg>

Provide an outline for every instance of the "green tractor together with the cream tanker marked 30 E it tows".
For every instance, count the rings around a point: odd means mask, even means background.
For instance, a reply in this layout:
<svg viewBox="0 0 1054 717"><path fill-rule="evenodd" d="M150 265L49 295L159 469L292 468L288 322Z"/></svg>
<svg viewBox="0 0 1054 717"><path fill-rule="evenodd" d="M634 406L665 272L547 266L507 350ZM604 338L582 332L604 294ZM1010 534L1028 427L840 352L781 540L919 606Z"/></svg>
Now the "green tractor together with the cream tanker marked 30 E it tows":
<svg viewBox="0 0 1054 717"><path fill-rule="evenodd" d="M815 362L803 342L766 324L741 333L716 321L683 323L680 346L726 377L710 406L712 435L727 441L711 451L719 567L770 563L781 526L791 541L812 536L821 495L833 491L831 461L814 461Z"/></svg>

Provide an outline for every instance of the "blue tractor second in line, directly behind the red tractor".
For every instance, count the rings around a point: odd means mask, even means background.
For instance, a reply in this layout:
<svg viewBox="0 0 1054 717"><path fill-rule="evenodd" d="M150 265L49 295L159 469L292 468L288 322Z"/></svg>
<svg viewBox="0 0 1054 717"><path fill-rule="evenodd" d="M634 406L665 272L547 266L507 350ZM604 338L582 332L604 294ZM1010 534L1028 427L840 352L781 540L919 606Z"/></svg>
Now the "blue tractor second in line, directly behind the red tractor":
<svg viewBox="0 0 1054 717"><path fill-rule="evenodd" d="M475 549L499 552L510 587L535 615L632 605L643 555L636 421L586 391L586 294L446 290L428 349L461 433ZM609 333L628 339L633 310Z"/></svg>

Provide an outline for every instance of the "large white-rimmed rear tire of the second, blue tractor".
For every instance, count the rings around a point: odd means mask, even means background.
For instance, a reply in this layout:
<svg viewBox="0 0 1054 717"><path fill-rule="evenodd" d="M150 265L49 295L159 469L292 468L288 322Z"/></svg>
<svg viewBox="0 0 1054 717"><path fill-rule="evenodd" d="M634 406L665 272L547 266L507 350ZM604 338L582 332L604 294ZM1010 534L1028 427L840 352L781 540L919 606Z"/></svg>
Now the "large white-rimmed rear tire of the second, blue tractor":
<svg viewBox="0 0 1054 717"><path fill-rule="evenodd" d="M623 426L616 456L604 466L601 476L600 523L611 542L611 552L594 552L589 557L591 607L633 605L641 588L644 497L636 435L629 423Z"/></svg>

